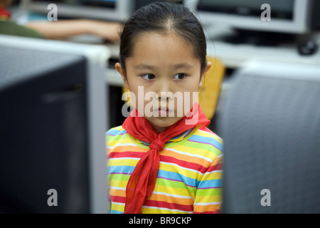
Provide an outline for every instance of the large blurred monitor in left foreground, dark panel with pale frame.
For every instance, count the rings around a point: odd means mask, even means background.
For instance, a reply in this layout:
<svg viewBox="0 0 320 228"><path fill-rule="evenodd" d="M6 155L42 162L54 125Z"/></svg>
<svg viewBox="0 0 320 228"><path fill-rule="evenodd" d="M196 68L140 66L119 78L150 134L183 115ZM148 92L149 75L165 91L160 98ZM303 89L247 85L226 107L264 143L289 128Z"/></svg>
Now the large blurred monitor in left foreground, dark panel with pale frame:
<svg viewBox="0 0 320 228"><path fill-rule="evenodd" d="M108 213L110 51L0 35L0 212Z"/></svg>

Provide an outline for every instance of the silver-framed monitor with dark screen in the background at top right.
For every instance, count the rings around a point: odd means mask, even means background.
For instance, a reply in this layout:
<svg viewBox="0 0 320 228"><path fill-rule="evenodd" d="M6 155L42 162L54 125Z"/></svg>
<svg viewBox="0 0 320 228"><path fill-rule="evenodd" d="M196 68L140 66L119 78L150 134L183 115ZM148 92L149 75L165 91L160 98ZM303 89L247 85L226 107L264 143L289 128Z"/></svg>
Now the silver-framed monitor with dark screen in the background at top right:
<svg viewBox="0 0 320 228"><path fill-rule="evenodd" d="M320 2L317 0L186 0L185 4L196 12L206 26L302 34L320 25ZM263 4L270 6L270 21L261 18L267 10L262 7Z"/></svg>

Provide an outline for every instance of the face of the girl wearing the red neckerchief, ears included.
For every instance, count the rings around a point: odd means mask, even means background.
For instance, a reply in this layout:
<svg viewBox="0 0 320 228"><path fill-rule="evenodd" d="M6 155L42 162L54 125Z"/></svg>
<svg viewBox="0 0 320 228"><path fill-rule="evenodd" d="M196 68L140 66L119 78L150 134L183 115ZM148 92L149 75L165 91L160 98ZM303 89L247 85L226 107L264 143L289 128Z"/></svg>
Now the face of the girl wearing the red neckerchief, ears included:
<svg viewBox="0 0 320 228"><path fill-rule="evenodd" d="M211 63L207 64L206 71ZM205 72L187 45L173 33L142 33L134 42L126 71L116 63L124 86L135 95L134 107L162 132L183 118L196 102ZM185 93L188 92L188 93ZM151 115L150 115L151 114Z"/></svg>

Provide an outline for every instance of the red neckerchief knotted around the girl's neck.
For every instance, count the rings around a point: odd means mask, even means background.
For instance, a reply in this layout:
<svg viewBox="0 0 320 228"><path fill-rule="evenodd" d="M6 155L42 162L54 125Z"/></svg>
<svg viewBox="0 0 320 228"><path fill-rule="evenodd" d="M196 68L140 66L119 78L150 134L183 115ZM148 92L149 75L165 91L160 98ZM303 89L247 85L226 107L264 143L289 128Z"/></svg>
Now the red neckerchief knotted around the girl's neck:
<svg viewBox="0 0 320 228"><path fill-rule="evenodd" d="M124 214L141 213L142 205L154 190L156 177L159 172L159 152L164 150L166 141L181 135L196 125L207 126L210 123L210 120L208 120L206 115L201 111L198 103L193 105L188 115L161 133L155 130L146 118L138 115L137 109L132 110L132 113L136 115L129 115L129 117L124 120L122 127L129 135L132 135L132 137L150 143L150 145L149 151L142 155L129 178L126 189ZM190 124L189 122L186 124L186 120L191 120L194 116L198 117L196 123Z"/></svg>

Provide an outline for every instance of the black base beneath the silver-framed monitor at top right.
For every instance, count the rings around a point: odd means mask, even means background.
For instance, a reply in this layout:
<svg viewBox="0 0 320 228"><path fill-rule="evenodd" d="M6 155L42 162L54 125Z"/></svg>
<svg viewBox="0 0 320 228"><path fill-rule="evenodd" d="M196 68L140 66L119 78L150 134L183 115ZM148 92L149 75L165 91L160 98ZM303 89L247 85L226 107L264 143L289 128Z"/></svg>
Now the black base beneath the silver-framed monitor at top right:
<svg viewBox="0 0 320 228"><path fill-rule="evenodd" d="M294 43L295 36L289 33L250 31L235 29L234 33L224 36L222 40L233 44L250 44L254 46L279 46L282 43Z"/></svg>

